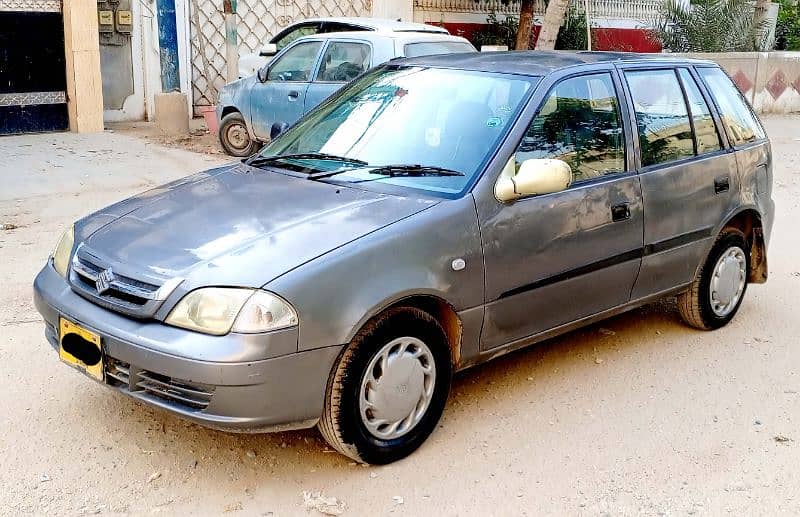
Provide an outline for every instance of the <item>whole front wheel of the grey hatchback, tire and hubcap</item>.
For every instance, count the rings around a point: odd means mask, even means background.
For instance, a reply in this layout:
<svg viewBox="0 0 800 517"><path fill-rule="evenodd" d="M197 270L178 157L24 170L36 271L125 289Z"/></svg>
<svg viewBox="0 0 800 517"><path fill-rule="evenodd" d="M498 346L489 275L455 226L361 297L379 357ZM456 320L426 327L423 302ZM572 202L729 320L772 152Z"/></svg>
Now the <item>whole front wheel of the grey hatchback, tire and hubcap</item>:
<svg viewBox="0 0 800 517"><path fill-rule="evenodd" d="M390 309L353 338L331 372L320 432L362 463L404 458L436 427L451 377L439 323L419 309Z"/></svg>

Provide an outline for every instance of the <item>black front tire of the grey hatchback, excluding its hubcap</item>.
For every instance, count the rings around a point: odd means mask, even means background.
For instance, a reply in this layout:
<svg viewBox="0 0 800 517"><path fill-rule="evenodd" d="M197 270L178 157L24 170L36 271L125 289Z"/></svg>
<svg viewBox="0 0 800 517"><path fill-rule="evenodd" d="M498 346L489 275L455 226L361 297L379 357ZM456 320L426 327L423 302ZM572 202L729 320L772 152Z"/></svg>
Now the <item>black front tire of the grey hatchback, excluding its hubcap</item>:
<svg viewBox="0 0 800 517"><path fill-rule="evenodd" d="M436 367L433 395L422 419L406 434L391 440L374 436L361 419L361 382L370 360L398 337L415 337L430 349ZM345 347L328 379L325 407L318 424L327 442L355 461L383 465L414 452L430 436L444 411L450 392L452 364L441 325L427 312L411 307L386 311Z"/></svg>

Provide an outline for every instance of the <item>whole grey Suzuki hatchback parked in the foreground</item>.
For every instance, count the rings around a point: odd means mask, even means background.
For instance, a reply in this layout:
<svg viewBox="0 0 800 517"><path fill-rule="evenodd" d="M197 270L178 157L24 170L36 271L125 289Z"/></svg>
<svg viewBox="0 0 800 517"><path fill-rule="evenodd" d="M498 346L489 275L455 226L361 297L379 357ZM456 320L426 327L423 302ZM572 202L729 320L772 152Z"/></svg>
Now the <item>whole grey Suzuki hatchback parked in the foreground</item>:
<svg viewBox="0 0 800 517"><path fill-rule="evenodd" d="M453 54L371 70L243 163L91 214L35 281L47 340L203 425L318 425L357 461L453 372L664 296L715 329L767 279L769 140L715 64Z"/></svg>

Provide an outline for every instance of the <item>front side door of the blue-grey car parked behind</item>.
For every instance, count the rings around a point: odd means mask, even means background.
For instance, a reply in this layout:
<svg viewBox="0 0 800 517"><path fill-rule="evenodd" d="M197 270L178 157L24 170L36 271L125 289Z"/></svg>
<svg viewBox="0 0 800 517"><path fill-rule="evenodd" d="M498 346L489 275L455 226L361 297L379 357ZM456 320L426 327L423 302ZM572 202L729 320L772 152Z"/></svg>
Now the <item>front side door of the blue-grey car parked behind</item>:
<svg viewBox="0 0 800 517"><path fill-rule="evenodd" d="M322 44L312 40L287 47L267 65L266 80L256 80L250 90L250 124L257 138L268 140L275 122L293 124L303 116Z"/></svg>

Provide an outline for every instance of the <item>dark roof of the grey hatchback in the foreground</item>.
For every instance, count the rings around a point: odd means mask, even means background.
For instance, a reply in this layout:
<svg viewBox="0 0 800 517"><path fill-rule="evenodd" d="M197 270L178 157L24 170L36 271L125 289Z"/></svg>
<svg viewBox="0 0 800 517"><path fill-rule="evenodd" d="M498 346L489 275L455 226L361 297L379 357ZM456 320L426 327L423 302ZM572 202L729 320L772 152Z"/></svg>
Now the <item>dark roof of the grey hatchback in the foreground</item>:
<svg viewBox="0 0 800 517"><path fill-rule="evenodd" d="M479 52L440 54L392 61L393 64L459 68L481 72L545 75L569 66L591 63L663 63L713 65L703 59L689 59L670 54L636 54L631 52L569 52L560 50L524 50L509 52Z"/></svg>

